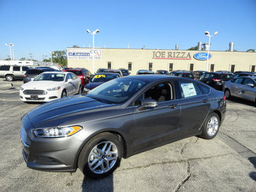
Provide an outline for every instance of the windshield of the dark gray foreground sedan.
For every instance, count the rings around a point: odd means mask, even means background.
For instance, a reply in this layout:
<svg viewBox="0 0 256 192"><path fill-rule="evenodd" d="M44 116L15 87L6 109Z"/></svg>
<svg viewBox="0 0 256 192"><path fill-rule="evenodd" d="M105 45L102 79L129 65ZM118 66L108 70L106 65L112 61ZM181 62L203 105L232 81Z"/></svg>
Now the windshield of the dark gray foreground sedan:
<svg viewBox="0 0 256 192"><path fill-rule="evenodd" d="M91 97L108 104L120 104L132 97L145 84L147 84L147 81L117 78L93 89L86 97Z"/></svg>

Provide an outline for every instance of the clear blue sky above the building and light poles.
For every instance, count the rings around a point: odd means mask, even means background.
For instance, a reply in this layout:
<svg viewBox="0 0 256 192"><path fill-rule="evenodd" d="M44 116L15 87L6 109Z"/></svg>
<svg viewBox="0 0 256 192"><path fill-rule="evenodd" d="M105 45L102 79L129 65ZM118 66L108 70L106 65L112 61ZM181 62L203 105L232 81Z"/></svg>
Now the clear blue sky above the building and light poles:
<svg viewBox="0 0 256 192"><path fill-rule="evenodd" d="M14 44L15 60L42 61L49 51L78 45L130 49L195 47L211 38L211 51L256 49L256 0L169 1L65 1L0 0L0 60L8 58Z"/></svg>

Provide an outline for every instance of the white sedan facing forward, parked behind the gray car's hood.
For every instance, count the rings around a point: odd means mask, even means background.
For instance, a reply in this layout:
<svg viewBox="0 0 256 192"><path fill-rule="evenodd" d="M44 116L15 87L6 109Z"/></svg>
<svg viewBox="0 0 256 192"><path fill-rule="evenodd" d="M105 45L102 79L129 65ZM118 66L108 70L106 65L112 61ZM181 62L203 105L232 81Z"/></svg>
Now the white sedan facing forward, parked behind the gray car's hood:
<svg viewBox="0 0 256 192"><path fill-rule="evenodd" d="M47 102L81 93L81 79L72 72L44 72L20 86L24 102Z"/></svg>

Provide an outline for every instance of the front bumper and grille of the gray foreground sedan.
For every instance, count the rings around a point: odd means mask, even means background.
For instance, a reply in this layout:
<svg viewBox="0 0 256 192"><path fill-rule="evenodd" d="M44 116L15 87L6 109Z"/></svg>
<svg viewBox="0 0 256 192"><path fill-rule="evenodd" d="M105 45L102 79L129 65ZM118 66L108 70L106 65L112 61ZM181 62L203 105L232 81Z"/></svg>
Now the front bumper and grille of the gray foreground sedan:
<svg viewBox="0 0 256 192"><path fill-rule="evenodd" d="M27 166L41 171L76 172L77 152L83 143L73 136L36 138L30 126L31 123L26 122L20 131L22 155Z"/></svg>

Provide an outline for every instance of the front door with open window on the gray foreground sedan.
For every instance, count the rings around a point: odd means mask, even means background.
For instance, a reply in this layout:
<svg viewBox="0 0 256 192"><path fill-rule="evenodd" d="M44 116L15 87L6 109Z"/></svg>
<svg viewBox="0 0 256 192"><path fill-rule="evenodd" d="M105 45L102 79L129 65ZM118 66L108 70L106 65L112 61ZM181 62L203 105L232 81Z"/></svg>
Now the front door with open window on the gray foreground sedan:
<svg viewBox="0 0 256 192"><path fill-rule="evenodd" d="M152 86L134 101L134 151L167 143L177 138L180 107L176 106L173 82ZM158 101L155 108L140 109L143 99Z"/></svg>

